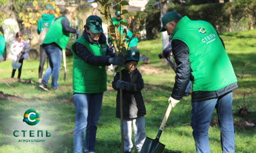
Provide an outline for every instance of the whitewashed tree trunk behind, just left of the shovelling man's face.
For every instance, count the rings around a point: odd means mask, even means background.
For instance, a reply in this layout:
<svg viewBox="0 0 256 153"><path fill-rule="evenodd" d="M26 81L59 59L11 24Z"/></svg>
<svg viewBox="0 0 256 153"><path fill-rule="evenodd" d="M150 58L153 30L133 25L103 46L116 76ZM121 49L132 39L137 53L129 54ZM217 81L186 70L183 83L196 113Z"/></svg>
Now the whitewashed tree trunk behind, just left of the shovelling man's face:
<svg viewBox="0 0 256 153"><path fill-rule="evenodd" d="M162 17L168 13L168 6L167 6L167 1L159 1L159 8L160 8L160 22L161 22L161 27L163 26L162 23ZM167 34L167 32L162 32L162 45L163 45L163 49L165 49L167 47L167 45L169 44L169 36ZM162 59L163 64L168 65L168 62L166 59Z"/></svg>

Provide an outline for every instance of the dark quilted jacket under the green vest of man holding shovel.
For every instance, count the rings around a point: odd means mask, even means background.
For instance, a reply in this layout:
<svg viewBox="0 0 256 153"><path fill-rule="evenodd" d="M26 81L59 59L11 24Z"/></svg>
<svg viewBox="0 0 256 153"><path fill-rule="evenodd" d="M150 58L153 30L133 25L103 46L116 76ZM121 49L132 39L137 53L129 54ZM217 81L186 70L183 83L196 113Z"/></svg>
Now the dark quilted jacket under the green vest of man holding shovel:
<svg viewBox="0 0 256 153"><path fill-rule="evenodd" d="M219 36L218 32L217 34ZM221 42L223 44L223 47L225 48L222 39ZM171 96L174 99L180 100L183 97L186 87L190 80L189 49L184 42L175 39L172 41L172 52L174 55L175 62L177 64L177 68L174 89ZM221 95L231 92L233 89L236 88L238 88L237 83L233 83L217 91L196 91L192 93L191 101L199 102L203 100L217 98Z"/></svg>

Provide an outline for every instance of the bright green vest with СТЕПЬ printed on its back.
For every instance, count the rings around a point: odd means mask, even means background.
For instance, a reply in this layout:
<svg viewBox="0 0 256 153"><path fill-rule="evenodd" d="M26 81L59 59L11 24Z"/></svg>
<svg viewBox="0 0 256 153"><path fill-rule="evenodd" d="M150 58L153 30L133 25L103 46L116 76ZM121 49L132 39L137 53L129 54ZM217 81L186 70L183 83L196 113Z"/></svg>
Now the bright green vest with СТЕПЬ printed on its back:
<svg viewBox="0 0 256 153"><path fill-rule="evenodd" d="M175 39L188 46L193 91L216 91L238 82L226 50L210 23L184 16L173 31L172 41Z"/></svg>

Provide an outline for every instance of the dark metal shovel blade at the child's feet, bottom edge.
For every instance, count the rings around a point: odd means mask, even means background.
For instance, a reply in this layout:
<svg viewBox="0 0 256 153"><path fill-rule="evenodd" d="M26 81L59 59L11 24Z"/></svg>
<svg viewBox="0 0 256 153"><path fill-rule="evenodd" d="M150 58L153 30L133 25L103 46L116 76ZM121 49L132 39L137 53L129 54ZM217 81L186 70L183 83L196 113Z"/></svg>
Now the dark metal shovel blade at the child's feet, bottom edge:
<svg viewBox="0 0 256 153"><path fill-rule="evenodd" d="M146 137L140 153L162 153L164 147L165 145L160 143L159 139L151 139Z"/></svg>

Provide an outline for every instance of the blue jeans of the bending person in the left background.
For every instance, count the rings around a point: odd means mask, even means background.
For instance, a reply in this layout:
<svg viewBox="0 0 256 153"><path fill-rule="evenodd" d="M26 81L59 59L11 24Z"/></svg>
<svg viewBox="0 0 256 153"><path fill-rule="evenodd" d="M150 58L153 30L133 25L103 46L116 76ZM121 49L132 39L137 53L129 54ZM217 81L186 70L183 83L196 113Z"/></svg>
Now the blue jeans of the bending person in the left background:
<svg viewBox="0 0 256 153"><path fill-rule="evenodd" d="M46 69L45 75L42 78L42 83L47 85L48 80L52 74L51 86L53 89L57 89L58 88L57 81L59 78L59 71L61 67L62 52L58 47L53 45L45 46L45 52L49 60L50 67Z"/></svg>

